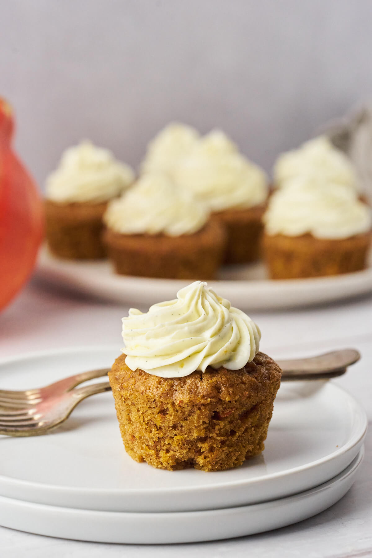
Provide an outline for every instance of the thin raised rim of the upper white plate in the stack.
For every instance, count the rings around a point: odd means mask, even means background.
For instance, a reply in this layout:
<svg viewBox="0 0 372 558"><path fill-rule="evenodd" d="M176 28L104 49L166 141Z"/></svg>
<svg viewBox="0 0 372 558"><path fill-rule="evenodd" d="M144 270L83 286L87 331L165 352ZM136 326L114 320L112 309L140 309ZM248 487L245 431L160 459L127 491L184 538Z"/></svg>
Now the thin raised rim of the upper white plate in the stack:
<svg viewBox="0 0 372 558"><path fill-rule="evenodd" d="M5 357L5 358L0 358L0 367L3 367L4 364L7 363L17 363L17 362L23 362L25 360L30 360L32 358L43 358L43 357L51 357L53 355L58 355L58 354L69 354L69 353L84 353L89 351L89 353L91 354L92 350L94 352L99 352L102 350L116 350L117 349L117 345L94 345L93 347L89 346L89 345L84 345L84 346L78 346L78 347L64 347L61 349L42 349L42 350L37 350L37 351L30 351L27 353L24 353L20 356L17 357ZM0 371L1 372L1 371ZM347 453L348 451L352 450L353 448L355 448L355 446L357 444L363 444L363 440L365 438L366 435L366 431L368 429L368 417L366 415L366 412L363 408L363 406L360 405L360 403L354 398L354 396L352 396L346 389L344 389L343 387L328 381L327 382L328 386L332 386L332 389L336 389L336 391L341 392L344 396L346 395L347 398L349 398L350 402L352 403L352 405L354 406L354 410L356 410L359 413L359 418L361 420L361 425L364 425L363 427L363 432L359 432L359 434L353 433L352 436L350 437L350 439L347 441L346 444L344 444L343 446L341 446L341 448L338 448L337 450L335 450L334 452L328 454L327 456L317 459L315 461L311 461L310 463L307 463L305 465L299 465L295 468L291 468L291 469L286 469L284 472L277 472L277 473L272 473L267 475L267 477L264 478L264 482L269 482L271 480L277 480L278 478L282 478L282 477L288 477L290 475L296 474L296 473L303 473L305 470L311 470L314 467L317 467L321 464L325 464L328 463L334 459L339 458L340 456L344 455L345 453ZM362 429L360 429L361 431ZM352 443L350 443L352 441ZM161 494L171 494L174 495L174 493L177 492L181 492L181 493L186 493L186 492L190 492L191 490L198 490L200 491L209 491L209 490L215 490L216 488L223 488L223 489L228 489L229 487L249 487L251 485L254 485L255 483L258 482L263 482L263 479L240 479L240 480L231 480L225 484L221 484L221 485L212 485L212 484L206 484L206 485L202 485L202 486L198 486L198 485L191 485L188 487L172 487L172 488L157 488L157 487L151 487L151 488L128 488L128 489L122 489L122 488L118 488L118 489L114 489L114 488L81 488L81 487L62 487L59 485L55 485L55 484L46 484L46 483L39 483L39 482L35 482L35 481L30 481L30 480L23 480L23 479L15 479L15 478L11 478L11 477L6 477L5 475L1 475L0 474L0 482L3 483L8 483L8 484L12 484L12 485L18 485L18 486L28 486L30 488L40 488L42 487L43 490L47 490L47 489L53 489L56 490L58 492L65 492L66 489L69 490L69 492L74 492L75 495L79 494L79 493L89 493L89 494L100 494L100 493L106 493L106 494L119 494L122 493L124 494L147 494L147 493L151 493L153 494L157 494L157 493L161 493ZM253 504L249 504L249 505L253 505ZM146 512L141 512L141 513L146 513ZM157 513L166 513L166 512L157 512ZM178 512L171 512L171 513L178 513Z"/></svg>

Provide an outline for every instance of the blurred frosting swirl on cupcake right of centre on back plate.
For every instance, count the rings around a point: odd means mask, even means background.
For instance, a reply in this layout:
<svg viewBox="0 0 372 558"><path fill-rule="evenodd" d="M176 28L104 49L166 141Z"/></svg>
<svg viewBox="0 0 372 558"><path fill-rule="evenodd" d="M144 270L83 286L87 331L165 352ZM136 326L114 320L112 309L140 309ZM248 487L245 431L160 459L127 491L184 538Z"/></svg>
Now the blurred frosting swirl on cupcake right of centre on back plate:
<svg viewBox="0 0 372 558"><path fill-rule="evenodd" d="M212 211L259 205L267 198L267 176L249 162L223 132L212 131L180 161L175 181Z"/></svg>

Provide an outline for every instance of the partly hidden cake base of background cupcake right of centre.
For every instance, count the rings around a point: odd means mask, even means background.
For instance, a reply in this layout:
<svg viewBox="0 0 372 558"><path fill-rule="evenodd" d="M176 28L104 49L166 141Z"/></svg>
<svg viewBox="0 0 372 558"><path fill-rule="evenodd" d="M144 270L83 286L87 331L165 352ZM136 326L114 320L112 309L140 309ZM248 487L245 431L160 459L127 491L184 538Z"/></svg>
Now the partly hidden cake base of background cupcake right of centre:
<svg viewBox="0 0 372 558"><path fill-rule="evenodd" d="M263 204L248 209L225 209L213 214L228 233L225 263L250 263L259 259L265 209Z"/></svg>

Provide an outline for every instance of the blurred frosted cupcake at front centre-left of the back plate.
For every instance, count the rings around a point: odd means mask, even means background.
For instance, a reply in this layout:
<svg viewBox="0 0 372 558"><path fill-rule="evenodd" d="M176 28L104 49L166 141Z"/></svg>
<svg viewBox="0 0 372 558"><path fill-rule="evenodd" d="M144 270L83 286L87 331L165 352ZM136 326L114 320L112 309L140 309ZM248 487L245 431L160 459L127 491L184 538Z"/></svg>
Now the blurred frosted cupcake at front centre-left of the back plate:
<svg viewBox="0 0 372 558"><path fill-rule="evenodd" d="M223 259L223 225L165 174L143 175L110 202L104 222L108 256L121 275L207 279Z"/></svg>

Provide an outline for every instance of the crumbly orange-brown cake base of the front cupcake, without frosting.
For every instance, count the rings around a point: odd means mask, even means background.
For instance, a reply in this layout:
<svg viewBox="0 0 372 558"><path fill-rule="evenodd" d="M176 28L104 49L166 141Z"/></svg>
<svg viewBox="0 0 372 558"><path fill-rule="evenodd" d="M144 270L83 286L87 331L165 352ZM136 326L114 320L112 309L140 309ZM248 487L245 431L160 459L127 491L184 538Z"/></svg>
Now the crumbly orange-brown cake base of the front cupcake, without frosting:
<svg viewBox="0 0 372 558"><path fill-rule="evenodd" d="M125 450L158 469L219 471L264 449L281 369L258 353L240 370L183 378L132 372L121 355L109 372Z"/></svg>

